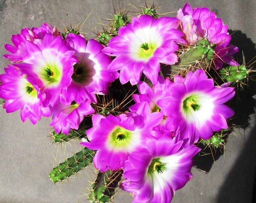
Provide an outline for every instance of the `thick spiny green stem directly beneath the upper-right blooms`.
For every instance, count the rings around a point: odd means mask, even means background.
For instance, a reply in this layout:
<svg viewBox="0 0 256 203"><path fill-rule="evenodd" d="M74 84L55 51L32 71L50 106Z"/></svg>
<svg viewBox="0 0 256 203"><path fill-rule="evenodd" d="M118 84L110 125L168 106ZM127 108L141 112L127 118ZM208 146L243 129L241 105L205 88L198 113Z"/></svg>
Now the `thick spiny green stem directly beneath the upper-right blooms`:
<svg viewBox="0 0 256 203"><path fill-rule="evenodd" d="M200 39L195 45L183 45L179 53L179 61L171 65L171 76L185 74L188 70L205 69L214 56L214 45L207 39Z"/></svg>

